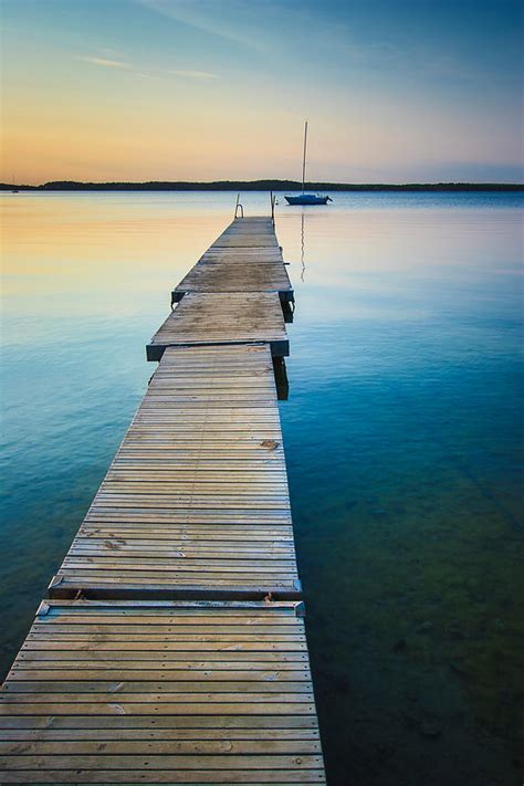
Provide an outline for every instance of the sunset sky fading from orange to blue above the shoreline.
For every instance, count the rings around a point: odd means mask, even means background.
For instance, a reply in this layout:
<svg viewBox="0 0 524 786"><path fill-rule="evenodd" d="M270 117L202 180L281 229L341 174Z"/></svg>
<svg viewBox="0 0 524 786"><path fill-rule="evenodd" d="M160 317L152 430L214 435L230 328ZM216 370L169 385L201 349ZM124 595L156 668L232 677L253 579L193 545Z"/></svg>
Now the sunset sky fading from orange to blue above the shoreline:
<svg viewBox="0 0 524 786"><path fill-rule="evenodd" d="M514 0L2 0L0 180L522 182Z"/></svg>

